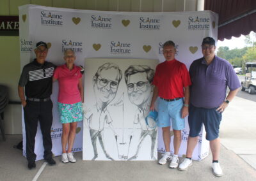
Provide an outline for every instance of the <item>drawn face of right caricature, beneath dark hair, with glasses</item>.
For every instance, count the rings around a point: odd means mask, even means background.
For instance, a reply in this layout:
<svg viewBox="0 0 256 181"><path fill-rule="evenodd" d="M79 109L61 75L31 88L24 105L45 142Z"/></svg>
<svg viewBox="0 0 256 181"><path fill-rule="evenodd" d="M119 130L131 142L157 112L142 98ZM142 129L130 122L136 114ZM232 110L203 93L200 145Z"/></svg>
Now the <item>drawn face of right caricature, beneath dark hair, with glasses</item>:
<svg viewBox="0 0 256 181"><path fill-rule="evenodd" d="M146 72L130 75L127 79L128 97L131 103L141 106L147 102L151 94L151 85Z"/></svg>

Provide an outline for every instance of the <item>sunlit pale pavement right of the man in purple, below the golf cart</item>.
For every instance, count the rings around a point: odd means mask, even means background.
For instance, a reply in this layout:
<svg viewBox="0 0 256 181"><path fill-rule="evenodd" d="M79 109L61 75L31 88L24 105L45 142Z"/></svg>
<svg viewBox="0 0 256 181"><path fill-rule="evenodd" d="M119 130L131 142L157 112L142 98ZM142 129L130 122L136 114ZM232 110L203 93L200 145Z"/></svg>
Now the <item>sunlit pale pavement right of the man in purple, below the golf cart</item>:
<svg viewBox="0 0 256 181"><path fill-rule="evenodd" d="M256 94L250 95L256 97ZM223 113L221 144L256 169L256 102L236 97Z"/></svg>

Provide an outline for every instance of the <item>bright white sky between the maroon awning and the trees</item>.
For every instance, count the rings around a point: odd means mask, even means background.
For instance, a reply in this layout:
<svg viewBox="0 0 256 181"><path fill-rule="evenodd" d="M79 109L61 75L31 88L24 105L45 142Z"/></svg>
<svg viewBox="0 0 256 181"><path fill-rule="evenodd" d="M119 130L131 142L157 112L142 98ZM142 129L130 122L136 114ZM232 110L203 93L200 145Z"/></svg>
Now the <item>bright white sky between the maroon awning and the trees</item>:
<svg viewBox="0 0 256 181"><path fill-rule="evenodd" d="M253 38L253 36L251 37ZM246 47L246 44L244 43L244 39L245 39L245 36L243 35L241 35L239 38L232 36L230 40L224 39L224 41L218 41L217 48L225 47L225 46L227 46L230 50L234 48L243 48L243 47Z"/></svg>

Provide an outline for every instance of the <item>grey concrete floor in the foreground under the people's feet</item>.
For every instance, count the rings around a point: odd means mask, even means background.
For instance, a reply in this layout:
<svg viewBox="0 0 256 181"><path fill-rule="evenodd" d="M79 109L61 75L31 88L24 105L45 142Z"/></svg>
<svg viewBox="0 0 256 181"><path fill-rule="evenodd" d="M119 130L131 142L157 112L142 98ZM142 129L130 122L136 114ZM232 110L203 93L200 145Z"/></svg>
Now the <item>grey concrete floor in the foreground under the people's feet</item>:
<svg viewBox="0 0 256 181"><path fill-rule="evenodd" d="M33 180L44 165L36 161L36 169L28 170L22 151L13 148L21 135L7 135L7 141L0 140L0 180ZM157 161L83 161L82 152L75 153L77 163L61 163L61 157L54 157L56 166L46 165L37 180L256 180L256 171L232 150L221 146L220 164L223 177L215 177L211 170L211 154L204 160L193 161L187 171L168 168Z"/></svg>

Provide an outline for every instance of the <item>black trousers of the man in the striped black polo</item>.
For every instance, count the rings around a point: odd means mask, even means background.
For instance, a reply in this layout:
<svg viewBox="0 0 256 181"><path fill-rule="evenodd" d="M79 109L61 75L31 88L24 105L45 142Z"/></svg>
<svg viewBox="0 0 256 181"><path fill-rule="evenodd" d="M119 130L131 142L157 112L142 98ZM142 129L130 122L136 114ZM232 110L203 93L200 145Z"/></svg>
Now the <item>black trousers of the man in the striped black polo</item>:
<svg viewBox="0 0 256 181"><path fill-rule="evenodd" d="M36 102L28 101L24 107L24 120L26 129L26 156L29 162L35 161L35 136L38 120L43 136L44 159L52 157L52 101Z"/></svg>

